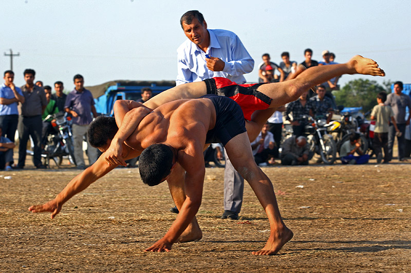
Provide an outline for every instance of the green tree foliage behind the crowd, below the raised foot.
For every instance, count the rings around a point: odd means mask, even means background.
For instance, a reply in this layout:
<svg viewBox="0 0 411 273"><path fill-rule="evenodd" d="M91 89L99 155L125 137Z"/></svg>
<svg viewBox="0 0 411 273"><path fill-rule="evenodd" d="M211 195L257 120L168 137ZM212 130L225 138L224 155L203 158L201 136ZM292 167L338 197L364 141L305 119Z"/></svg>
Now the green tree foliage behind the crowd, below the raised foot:
<svg viewBox="0 0 411 273"><path fill-rule="evenodd" d="M363 107L362 112L372 110L377 104L377 94L385 91L390 93L390 82L384 82L381 86L376 81L357 79L349 81L341 90L333 91L337 105L345 107ZM388 86L389 85L389 86Z"/></svg>

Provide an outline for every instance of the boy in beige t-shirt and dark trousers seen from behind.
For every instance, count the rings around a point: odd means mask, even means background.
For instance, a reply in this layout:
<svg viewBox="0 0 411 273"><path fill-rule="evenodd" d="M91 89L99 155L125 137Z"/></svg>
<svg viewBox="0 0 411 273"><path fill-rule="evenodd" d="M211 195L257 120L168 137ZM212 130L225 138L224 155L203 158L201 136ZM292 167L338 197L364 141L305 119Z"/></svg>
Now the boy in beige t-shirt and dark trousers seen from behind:
<svg viewBox="0 0 411 273"><path fill-rule="evenodd" d="M387 93L380 92L377 95L377 105L372 108L371 120L376 121L374 129L374 139L373 148L377 155L377 163L381 163L382 151L384 149L384 162L388 163L389 153L388 153L388 131L389 131L389 121L393 123L395 131L397 134L401 134L398 130L397 123L395 122L393 108L385 105L384 102L387 100Z"/></svg>

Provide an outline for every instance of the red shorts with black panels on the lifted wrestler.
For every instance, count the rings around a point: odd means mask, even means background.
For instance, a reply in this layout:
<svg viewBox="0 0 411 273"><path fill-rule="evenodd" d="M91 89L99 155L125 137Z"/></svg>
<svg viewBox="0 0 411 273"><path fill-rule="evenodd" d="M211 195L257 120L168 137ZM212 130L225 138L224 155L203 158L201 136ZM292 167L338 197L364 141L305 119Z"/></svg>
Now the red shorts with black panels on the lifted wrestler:
<svg viewBox="0 0 411 273"><path fill-rule="evenodd" d="M251 120L256 110L267 109L272 99L256 89L264 83L236 84L226 78L211 78L204 82L207 85L207 94L229 97L240 105L244 118Z"/></svg>

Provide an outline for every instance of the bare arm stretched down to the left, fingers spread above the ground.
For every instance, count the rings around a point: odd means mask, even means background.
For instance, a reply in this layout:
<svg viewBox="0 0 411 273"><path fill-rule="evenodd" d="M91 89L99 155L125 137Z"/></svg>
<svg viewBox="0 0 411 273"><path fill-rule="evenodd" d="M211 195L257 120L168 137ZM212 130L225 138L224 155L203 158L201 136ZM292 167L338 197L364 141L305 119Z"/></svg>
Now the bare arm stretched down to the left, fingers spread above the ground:
<svg viewBox="0 0 411 273"><path fill-rule="evenodd" d="M64 203L66 203L71 197L77 193L83 191L91 183L108 173L109 171L116 168L117 165L107 165L103 156L90 167L88 167L84 172L74 177L70 183L51 201L43 205L35 205L29 207L31 212L51 212L51 219L57 215Z"/></svg>

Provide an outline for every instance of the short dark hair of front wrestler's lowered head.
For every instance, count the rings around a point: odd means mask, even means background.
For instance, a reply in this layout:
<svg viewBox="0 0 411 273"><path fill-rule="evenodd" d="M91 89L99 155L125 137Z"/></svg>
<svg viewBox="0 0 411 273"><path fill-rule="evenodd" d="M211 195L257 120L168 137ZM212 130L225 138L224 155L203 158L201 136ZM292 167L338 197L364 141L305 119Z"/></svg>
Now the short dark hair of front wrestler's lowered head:
<svg viewBox="0 0 411 273"><path fill-rule="evenodd" d="M156 186L170 174L174 153L170 146L157 143L148 146L140 155L138 168L144 184Z"/></svg>

